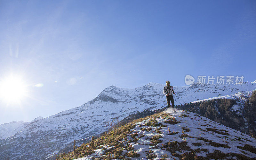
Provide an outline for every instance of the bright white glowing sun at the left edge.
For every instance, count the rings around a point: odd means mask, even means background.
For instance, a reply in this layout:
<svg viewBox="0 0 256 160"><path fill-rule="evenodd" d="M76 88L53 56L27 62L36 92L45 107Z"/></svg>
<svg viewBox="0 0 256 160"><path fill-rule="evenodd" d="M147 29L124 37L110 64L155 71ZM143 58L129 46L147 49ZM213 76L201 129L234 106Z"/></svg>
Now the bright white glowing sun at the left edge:
<svg viewBox="0 0 256 160"><path fill-rule="evenodd" d="M7 103L20 103L26 96L26 84L18 76L0 80L0 98Z"/></svg>

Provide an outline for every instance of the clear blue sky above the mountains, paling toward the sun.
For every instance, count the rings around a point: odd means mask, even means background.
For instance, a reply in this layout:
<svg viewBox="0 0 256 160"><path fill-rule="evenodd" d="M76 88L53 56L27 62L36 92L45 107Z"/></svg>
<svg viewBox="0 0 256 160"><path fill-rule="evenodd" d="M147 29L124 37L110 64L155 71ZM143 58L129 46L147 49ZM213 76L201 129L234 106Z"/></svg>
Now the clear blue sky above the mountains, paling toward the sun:
<svg viewBox="0 0 256 160"><path fill-rule="evenodd" d="M0 1L0 23L0 79L22 76L30 95L1 101L0 124L77 107L111 85L256 80L253 0Z"/></svg>

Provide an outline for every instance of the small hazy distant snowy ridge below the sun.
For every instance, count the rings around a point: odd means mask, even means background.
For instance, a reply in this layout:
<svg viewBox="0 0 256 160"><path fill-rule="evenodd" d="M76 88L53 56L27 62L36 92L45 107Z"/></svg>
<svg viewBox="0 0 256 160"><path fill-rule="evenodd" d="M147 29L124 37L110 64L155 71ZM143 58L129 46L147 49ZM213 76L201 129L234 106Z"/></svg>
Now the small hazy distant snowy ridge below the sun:
<svg viewBox="0 0 256 160"><path fill-rule="evenodd" d="M36 119L34 119L31 122L34 122L39 119L43 119L43 117L41 117L41 116L37 117ZM24 129L31 122L13 121L13 122L1 124L0 125L0 139L14 135L21 129Z"/></svg>

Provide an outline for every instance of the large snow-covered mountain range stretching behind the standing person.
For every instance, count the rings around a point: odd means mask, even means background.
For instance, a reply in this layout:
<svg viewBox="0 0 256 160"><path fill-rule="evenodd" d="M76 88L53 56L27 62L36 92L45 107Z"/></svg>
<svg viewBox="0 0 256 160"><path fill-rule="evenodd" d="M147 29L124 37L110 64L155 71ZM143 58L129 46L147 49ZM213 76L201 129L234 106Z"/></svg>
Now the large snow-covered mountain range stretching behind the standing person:
<svg viewBox="0 0 256 160"><path fill-rule="evenodd" d="M112 117L124 117L143 110L166 106L165 85L149 83L135 89L110 86L96 98L79 107L28 124L13 136L0 140L0 157L11 159L45 159L77 139L100 134ZM227 96L252 93L256 81L238 85L192 84L174 87L175 105ZM241 94L243 96L243 94Z"/></svg>

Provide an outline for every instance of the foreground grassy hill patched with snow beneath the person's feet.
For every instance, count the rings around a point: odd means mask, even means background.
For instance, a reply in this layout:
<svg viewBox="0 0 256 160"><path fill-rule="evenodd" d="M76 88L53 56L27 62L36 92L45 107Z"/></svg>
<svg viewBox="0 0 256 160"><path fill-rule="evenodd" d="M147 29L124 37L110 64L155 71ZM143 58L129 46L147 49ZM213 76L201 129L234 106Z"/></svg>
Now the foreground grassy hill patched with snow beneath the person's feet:
<svg viewBox="0 0 256 160"><path fill-rule="evenodd" d="M168 109L166 113L168 114L155 115L156 125L153 125L153 117L135 123L135 127L128 131L127 138L123 138L118 146L103 144L98 146L94 153L76 160L97 160L107 156L116 160L123 158L179 160L194 159L195 155L198 159L256 157L256 139L248 135L192 112L174 113ZM173 123L173 119L176 123ZM156 132L156 129L159 131ZM122 144L123 147L120 147ZM89 145L86 147L88 148ZM114 157L115 150L121 150L121 155ZM136 157L131 157L132 152Z"/></svg>

